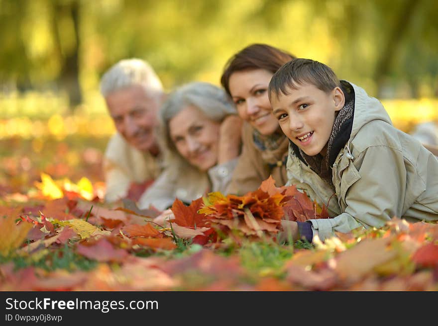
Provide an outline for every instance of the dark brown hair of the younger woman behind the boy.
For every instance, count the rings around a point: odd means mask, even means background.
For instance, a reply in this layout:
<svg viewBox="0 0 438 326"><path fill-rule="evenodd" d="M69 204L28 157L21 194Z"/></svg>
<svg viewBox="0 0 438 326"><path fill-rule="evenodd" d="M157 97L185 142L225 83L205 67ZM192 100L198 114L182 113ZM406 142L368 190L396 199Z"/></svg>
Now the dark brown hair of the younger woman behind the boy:
<svg viewBox="0 0 438 326"><path fill-rule="evenodd" d="M229 58L225 64L220 83L226 93L231 96L229 91L229 78L232 73L264 69L274 74L281 66L294 58L295 56L289 52L267 44L255 43L248 45Z"/></svg>

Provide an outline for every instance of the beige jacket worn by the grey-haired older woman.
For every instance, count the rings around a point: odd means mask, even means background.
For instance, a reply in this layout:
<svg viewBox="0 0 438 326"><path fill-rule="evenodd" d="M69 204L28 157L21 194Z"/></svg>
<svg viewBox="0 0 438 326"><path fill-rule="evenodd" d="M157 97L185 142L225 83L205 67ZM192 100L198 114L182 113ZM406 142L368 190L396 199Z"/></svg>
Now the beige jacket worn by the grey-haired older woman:
<svg viewBox="0 0 438 326"><path fill-rule="evenodd" d="M175 198L190 204L192 200L208 192L224 193L236 163L237 159L218 164L208 172L200 171L187 163L179 163L181 166L172 164L143 193L138 200L138 207L148 209L152 205L159 210L165 210L172 206Z"/></svg>

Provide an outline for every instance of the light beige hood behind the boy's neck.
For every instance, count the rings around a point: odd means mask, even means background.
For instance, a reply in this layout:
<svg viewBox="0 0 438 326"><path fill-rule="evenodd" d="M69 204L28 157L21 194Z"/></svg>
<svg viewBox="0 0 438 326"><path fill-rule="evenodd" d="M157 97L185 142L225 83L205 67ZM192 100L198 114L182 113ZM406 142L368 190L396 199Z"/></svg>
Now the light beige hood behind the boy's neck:
<svg viewBox="0 0 438 326"><path fill-rule="evenodd" d="M354 90L354 118L350 139L354 138L360 128L370 121L382 120L392 125L388 112L377 98L369 96L363 88L352 82L341 81L341 83L343 87L352 87Z"/></svg>

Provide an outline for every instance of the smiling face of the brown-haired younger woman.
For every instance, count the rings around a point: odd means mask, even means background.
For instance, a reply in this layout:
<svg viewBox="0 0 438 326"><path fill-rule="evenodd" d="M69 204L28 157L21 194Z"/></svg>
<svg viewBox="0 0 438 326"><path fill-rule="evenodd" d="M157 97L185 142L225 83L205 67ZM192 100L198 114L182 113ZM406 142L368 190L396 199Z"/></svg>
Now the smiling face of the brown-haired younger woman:
<svg viewBox="0 0 438 326"><path fill-rule="evenodd" d="M265 136L279 129L268 98L268 85L273 75L264 69L245 70L232 73L228 81L240 118Z"/></svg>

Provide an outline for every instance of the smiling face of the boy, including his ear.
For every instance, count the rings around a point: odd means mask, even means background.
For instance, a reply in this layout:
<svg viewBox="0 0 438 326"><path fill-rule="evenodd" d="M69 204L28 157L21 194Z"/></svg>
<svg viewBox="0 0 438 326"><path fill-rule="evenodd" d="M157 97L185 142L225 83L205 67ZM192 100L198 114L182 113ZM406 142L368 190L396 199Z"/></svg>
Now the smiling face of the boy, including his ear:
<svg viewBox="0 0 438 326"><path fill-rule="evenodd" d="M326 93L304 83L297 84L297 89L288 88L287 92L288 95L271 97L273 113L283 133L307 155L325 156L335 112L345 102L342 90L335 87Z"/></svg>

